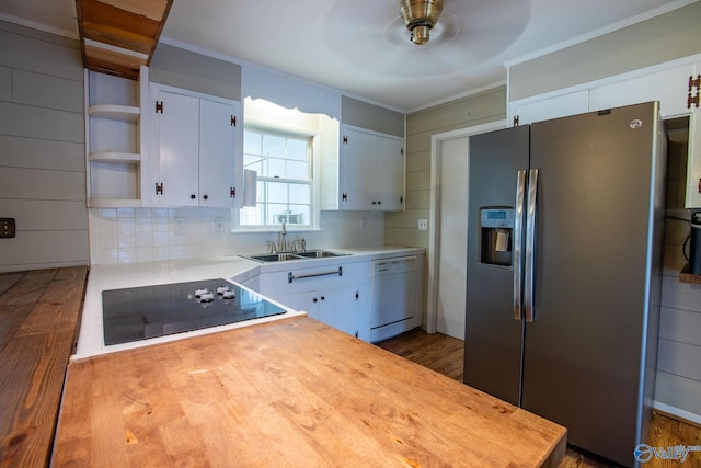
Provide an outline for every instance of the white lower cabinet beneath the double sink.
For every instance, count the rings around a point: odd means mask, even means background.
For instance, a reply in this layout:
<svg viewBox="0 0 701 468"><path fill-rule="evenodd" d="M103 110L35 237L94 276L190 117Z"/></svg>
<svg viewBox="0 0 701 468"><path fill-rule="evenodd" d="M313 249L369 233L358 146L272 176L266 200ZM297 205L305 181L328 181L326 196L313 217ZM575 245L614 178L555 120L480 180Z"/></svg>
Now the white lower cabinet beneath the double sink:
<svg viewBox="0 0 701 468"><path fill-rule="evenodd" d="M369 341L368 262L323 263L317 266L290 262L288 266L289 270L281 272L261 273L260 293Z"/></svg>

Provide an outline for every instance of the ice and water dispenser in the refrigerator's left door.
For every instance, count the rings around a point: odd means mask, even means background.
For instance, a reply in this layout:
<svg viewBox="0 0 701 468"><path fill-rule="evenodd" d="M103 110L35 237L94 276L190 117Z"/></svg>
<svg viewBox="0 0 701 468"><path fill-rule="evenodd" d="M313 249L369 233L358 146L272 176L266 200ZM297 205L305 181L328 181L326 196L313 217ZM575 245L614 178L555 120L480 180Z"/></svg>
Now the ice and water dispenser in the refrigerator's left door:
<svg viewBox="0 0 701 468"><path fill-rule="evenodd" d="M514 209L480 208L480 263L512 266Z"/></svg>

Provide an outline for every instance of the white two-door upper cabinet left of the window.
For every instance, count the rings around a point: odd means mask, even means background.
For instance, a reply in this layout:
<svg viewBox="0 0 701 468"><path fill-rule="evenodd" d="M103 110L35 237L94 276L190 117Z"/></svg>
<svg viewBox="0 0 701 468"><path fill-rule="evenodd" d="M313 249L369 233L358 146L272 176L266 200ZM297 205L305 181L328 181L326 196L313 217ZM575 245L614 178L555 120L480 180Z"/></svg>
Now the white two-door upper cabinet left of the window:
<svg viewBox="0 0 701 468"><path fill-rule="evenodd" d="M240 103L162 85L151 102L153 205L241 207Z"/></svg>

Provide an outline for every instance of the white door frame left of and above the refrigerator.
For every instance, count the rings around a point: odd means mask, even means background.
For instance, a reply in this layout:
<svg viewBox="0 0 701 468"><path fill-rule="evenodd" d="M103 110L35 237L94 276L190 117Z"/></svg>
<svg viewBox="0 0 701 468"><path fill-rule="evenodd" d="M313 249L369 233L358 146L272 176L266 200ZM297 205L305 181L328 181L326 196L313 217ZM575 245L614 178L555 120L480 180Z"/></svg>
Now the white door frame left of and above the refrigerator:
<svg viewBox="0 0 701 468"><path fill-rule="evenodd" d="M440 180L439 173L443 164L441 144L451 139L471 137L473 135L485 134L492 130L506 128L506 119L474 125L471 127L458 128L456 130L444 132L430 136L430 205L429 226L433 228L428 236L428 284L426 304L426 332L436 332L437 310L438 310L438 282L440 246ZM466 239L467 242L467 239Z"/></svg>

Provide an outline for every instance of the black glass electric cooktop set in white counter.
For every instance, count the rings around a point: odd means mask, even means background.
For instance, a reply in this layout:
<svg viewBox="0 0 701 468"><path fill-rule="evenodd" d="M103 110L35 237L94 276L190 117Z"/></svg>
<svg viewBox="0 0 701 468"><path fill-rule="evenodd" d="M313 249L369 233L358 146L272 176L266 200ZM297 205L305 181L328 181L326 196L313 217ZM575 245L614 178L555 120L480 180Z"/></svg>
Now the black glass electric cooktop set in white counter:
<svg viewBox="0 0 701 468"><path fill-rule="evenodd" d="M285 309L217 278L102 292L106 345L279 313Z"/></svg>

